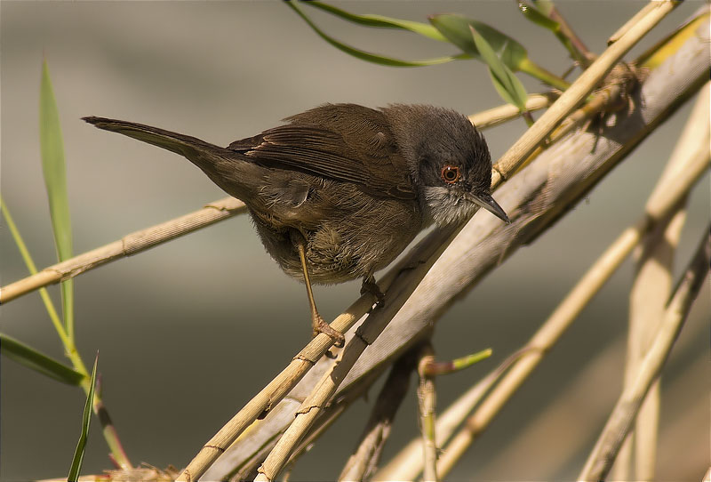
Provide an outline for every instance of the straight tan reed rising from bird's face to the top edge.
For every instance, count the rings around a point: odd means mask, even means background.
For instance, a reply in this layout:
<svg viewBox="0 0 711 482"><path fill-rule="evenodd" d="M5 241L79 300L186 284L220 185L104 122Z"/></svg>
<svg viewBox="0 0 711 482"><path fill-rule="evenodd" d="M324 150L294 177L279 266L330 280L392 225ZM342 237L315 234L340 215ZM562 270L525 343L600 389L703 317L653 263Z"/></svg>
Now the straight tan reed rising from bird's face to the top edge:
<svg viewBox="0 0 711 482"><path fill-rule="evenodd" d="M531 128L516 141L499 159L496 172L498 176L491 181L494 186L499 185L500 179L506 179L505 173L515 171L518 159L525 159L533 153L539 144L546 139L555 125L558 125L565 116L571 112L571 106L575 107L585 100L587 95L595 89L597 84L603 80L611 69L617 64L625 53L629 51L651 28L654 28L660 20L675 9L676 3L669 0L652 1L654 8L644 15L639 21L630 27L627 32L619 38L619 41L611 44L595 62L585 70L576 81L561 95L560 99L547 109L540 116Z"/></svg>

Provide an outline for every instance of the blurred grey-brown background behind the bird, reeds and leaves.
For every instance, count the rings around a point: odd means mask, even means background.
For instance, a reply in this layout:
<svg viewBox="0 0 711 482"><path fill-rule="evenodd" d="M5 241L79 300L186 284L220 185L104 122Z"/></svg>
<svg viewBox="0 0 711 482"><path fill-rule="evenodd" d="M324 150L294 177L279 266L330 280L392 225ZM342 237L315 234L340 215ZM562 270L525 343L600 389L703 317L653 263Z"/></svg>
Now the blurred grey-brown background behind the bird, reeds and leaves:
<svg viewBox="0 0 711 482"><path fill-rule="evenodd" d="M651 45L700 4L683 4L643 44ZM562 72L568 65L555 38L524 20L513 2L339 5L355 12L422 21L429 13L465 13L514 35L546 68ZM602 52L607 37L642 5L560 2L571 25L595 52ZM453 52L446 44L414 34L361 28L313 9L307 12L328 32L372 52L409 59ZM43 54L52 73L65 137L76 253L224 196L184 159L97 131L80 121L81 116L114 116L226 145L326 101L367 106L422 102L467 114L501 102L478 63L459 61L429 68L367 64L325 44L294 12L276 2L3 1L0 20L2 195L39 267L55 260L37 143ZM633 57L634 52L629 58ZM531 79L521 78L531 92L540 89ZM492 347L495 357L442 379L441 407L523 343L584 269L637 219L688 111L688 106L682 108L554 229L521 249L443 317L435 334L441 357L485 347ZM487 131L492 157L499 157L523 129L518 121ZM691 197L679 264L686 261L707 222L708 206L706 177ZM4 222L0 242L5 285L26 276L26 269ZM504 450L530 426L533 415L560 397L581 367L623 331L631 273L627 263L451 480L575 476L597 430L576 451L575 460L552 472L536 469L543 455L556 450L548 445L558 438L556 434L576 430L574 421L545 428L543 438L503 462L500 455L507 454ZM316 288L324 317L346 307L358 287L349 283ZM59 300L57 288L51 291ZM104 398L132 461L184 466L308 341L303 292L303 286L285 277L263 252L246 216L78 277L78 346L86 360L100 350ZM707 467L708 368L702 363L699 372L694 362L707 351L707 287L701 298L668 372L673 377L692 373L704 378L687 375L683 380L689 380L682 386L690 391L665 396L665 407L675 412L665 413L662 428L677 423L679 414L699 415L689 425L695 430L683 434L684 444L665 442L663 457L674 462L663 468L662 478L699 479ZM12 301L0 314L4 333L62 357L36 293ZM0 477L66 475L78 438L83 393L6 358L0 363ZM590 391L589 398L603 390L619 390L621 373L621 367L611 370L609 380ZM187 377L198 377L199 390L183 390ZM370 402L376 393L371 392ZM412 398L399 414L387 454L416 433ZM704 402L700 413L699 399ZM356 442L368 407L356 403L352 413L297 465L292 479L335 478ZM600 418L597 426L602 423ZM94 422L84 473L109 467L98 427Z"/></svg>

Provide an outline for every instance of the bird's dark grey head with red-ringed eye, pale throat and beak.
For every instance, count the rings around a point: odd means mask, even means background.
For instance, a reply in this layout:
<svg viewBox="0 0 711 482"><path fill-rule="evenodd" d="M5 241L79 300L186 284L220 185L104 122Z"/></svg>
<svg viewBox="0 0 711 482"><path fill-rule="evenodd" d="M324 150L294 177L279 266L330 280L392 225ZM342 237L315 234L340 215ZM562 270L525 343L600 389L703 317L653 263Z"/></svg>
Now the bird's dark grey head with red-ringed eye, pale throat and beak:
<svg viewBox="0 0 711 482"><path fill-rule="evenodd" d="M471 217L480 207L508 222L491 197L491 155L466 116L433 106L383 108L398 149L418 187L420 205L442 226Z"/></svg>

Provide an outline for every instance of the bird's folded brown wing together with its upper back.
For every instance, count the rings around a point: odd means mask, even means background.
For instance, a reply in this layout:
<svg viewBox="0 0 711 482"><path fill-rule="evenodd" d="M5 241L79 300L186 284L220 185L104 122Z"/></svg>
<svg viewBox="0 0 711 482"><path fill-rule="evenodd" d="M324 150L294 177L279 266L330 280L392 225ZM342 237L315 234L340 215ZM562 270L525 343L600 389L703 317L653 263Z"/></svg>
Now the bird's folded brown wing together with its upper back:
<svg viewBox="0 0 711 482"><path fill-rule="evenodd" d="M410 174L387 121L355 104L329 104L285 119L228 146L265 167L353 182L373 196L415 198Z"/></svg>

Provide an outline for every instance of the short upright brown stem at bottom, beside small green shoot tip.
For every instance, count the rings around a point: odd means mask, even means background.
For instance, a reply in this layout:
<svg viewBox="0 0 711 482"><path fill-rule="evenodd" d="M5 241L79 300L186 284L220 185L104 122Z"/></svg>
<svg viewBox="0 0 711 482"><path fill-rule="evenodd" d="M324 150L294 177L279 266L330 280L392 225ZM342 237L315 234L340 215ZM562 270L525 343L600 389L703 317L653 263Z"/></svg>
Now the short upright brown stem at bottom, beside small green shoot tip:
<svg viewBox="0 0 711 482"><path fill-rule="evenodd" d="M435 441L435 376L427 373L427 366L435 362L435 352L427 343L419 354L417 372L419 383L417 400L419 408L419 430L422 440L422 463L424 466L422 480L436 482L437 478L437 445Z"/></svg>

